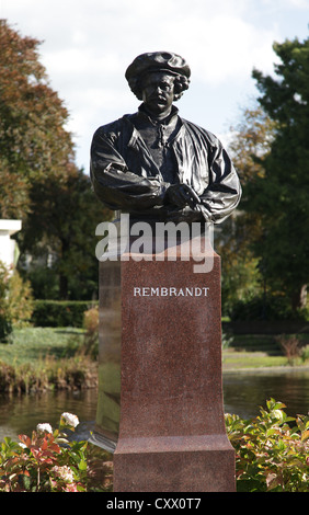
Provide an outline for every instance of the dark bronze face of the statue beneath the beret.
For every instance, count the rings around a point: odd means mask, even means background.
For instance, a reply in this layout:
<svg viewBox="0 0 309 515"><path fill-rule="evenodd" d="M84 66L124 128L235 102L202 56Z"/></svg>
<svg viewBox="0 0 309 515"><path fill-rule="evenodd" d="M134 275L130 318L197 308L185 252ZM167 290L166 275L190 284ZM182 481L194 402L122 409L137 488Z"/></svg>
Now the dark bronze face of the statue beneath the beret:
<svg viewBox="0 0 309 515"><path fill-rule="evenodd" d="M164 71L153 71L142 82L142 101L156 116L168 116L174 100L174 77Z"/></svg>

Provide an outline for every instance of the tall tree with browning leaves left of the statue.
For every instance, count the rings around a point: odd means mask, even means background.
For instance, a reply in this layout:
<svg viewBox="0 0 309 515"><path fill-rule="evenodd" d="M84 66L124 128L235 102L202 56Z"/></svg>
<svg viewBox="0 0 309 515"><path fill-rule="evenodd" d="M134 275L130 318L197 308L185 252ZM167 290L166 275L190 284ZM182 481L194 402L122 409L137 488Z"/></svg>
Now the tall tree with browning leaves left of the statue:
<svg viewBox="0 0 309 515"><path fill-rule="evenodd" d="M68 111L48 84L39 44L0 21L0 217L23 220L20 272L35 297L88 299L98 289L95 227L110 211L75 163ZM37 264L50 255L52 267Z"/></svg>

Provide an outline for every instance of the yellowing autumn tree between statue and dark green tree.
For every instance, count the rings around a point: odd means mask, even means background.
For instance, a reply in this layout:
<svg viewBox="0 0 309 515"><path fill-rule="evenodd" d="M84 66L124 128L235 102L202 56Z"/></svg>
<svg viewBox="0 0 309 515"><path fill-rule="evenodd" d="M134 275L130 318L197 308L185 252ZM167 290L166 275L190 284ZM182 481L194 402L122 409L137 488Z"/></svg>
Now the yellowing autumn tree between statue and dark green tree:
<svg viewBox="0 0 309 515"><path fill-rule="evenodd" d="M270 152L274 137L274 123L265 112L254 105L241 113L240 122L230 128L232 138L229 152L244 187L256 176L264 176L263 160ZM261 217L256 211L242 210L242 203L222 225L216 237L216 248L222 254L222 310L231 314L234 302L247 301L261 295L263 278L259 271L259 258L252 243L261 236ZM244 201L245 202L245 201Z"/></svg>

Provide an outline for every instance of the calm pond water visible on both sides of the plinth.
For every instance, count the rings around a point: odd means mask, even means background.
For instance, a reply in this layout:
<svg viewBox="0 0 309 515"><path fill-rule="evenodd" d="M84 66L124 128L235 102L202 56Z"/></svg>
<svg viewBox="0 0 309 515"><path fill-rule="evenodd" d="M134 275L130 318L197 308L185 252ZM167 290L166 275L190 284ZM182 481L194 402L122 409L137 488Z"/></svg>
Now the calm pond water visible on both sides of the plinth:
<svg viewBox="0 0 309 515"><path fill-rule="evenodd" d="M309 369L245 371L224 374L225 411L250 419L260 413L273 397L287 405L290 416L309 410ZM58 426L62 412L78 415L80 422L95 420L96 390L81 392L44 392L21 397L0 396L0 442L21 433L31 435L36 424Z"/></svg>

